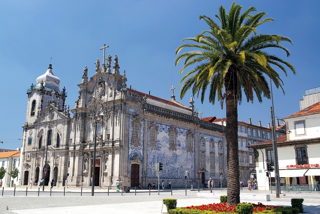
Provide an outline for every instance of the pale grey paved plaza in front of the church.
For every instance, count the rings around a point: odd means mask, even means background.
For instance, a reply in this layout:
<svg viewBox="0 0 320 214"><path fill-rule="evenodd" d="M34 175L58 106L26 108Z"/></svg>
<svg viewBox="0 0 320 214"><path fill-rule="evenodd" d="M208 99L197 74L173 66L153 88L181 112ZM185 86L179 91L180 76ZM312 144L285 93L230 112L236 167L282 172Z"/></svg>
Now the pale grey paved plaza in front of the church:
<svg viewBox="0 0 320 214"><path fill-rule="evenodd" d="M209 190L201 190L209 192ZM220 190L214 190L221 193ZM83 188L83 195L80 196L81 188L66 189L63 196L63 188L53 188L52 196L50 196L50 188L45 189L45 192L38 189L28 189L26 196L25 188L16 188L15 196L13 196L13 188L5 188L4 195L0 196L0 213L18 213L18 214L53 214L53 213L157 213L166 212L166 207L162 203L164 198L178 199L177 207L202 205L208 203L219 203L219 199L197 198L198 191L187 191L174 189L172 191L160 191L160 195L156 190L150 192L148 190L131 190L130 193L116 192L115 190L95 189L95 196L91 196L91 188ZM223 189L226 193L226 189ZM243 193L250 192L247 189L241 191ZM255 190L256 194L270 193L270 191ZM274 193L274 192L273 192ZM136 194L136 195L135 195ZM320 213L320 194L315 193L285 193L281 194L281 198L276 198L275 194L270 194L271 201L263 202L269 205L291 205L291 198L304 198L304 209L306 213ZM243 201L241 201L243 202ZM258 203L258 201L248 201ZM6 207L9 210L6 210Z"/></svg>

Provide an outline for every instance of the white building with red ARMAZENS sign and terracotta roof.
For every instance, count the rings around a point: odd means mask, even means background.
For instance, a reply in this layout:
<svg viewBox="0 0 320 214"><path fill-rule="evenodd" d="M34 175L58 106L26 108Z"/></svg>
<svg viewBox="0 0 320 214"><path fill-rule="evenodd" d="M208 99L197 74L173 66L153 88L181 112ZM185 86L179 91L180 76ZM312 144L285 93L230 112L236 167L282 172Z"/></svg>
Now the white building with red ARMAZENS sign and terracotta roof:
<svg viewBox="0 0 320 214"><path fill-rule="evenodd" d="M313 178L320 181L320 102L283 120L286 123L287 135L277 138L280 182L285 184L282 188L290 190L292 185L300 185L306 187L299 189L310 191L310 187L313 188ZM256 166L258 188L269 189L265 172L266 162L274 162L272 140L249 147L259 152L259 163ZM271 177L274 182L274 172Z"/></svg>

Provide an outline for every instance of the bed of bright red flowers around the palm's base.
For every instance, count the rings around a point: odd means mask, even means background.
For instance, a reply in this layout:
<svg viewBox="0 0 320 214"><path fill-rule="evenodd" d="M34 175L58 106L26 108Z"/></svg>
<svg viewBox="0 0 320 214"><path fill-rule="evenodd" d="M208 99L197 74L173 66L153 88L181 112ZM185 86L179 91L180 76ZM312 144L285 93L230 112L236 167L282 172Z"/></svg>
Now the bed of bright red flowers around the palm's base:
<svg viewBox="0 0 320 214"><path fill-rule="evenodd" d="M276 208L281 208L282 206L269 206L263 205L262 203L252 204L253 205L253 212L260 212L263 210L273 210ZM206 204L200 206L191 206L185 207L184 209L194 209L194 210L207 210L207 211L215 211L215 212L235 212L236 206L231 205L227 207L227 203L213 203L213 204Z"/></svg>

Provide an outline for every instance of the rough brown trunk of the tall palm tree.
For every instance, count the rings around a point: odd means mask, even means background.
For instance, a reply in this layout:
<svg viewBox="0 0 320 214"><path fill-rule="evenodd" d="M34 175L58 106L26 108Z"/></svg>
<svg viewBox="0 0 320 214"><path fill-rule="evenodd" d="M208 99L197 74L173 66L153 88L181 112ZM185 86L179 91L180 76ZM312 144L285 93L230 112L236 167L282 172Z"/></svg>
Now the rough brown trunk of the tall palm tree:
<svg viewBox="0 0 320 214"><path fill-rule="evenodd" d="M238 159L238 107L237 73L229 68L225 77L226 88L226 140L227 140L227 205L240 203L239 159Z"/></svg>

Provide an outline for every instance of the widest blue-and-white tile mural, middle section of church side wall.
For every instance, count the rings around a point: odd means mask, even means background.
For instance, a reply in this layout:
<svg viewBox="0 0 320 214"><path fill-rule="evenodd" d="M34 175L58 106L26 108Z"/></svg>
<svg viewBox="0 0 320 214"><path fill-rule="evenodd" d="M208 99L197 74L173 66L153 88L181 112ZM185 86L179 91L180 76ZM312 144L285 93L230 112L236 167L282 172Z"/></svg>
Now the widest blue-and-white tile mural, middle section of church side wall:
<svg viewBox="0 0 320 214"><path fill-rule="evenodd" d="M148 124L153 123L148 121ZM172 126L156 123L158 128L157 133L157 148L150 147L149 131L148 131L148 152L147 152L147 170L148 178L157 178L156 163L163 163L163 170L160 173L160 178L164 179L184 179L185 171L189 171L189 179L195 179L195 139L193 137L193 152L187 152L187 132L190 131L184 128L177 129L177 151L169 150L169 131ZM192 131L194 134L194 131Z"/></svg>

